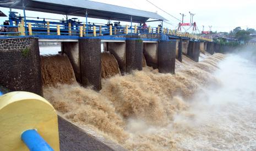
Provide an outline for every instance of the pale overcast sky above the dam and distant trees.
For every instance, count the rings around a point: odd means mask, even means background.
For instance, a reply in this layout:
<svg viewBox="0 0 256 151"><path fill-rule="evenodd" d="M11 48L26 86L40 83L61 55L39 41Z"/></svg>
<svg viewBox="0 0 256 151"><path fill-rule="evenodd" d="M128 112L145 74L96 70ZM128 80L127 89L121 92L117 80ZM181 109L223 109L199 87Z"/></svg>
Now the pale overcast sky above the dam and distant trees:
<svg viewBox="0 0 256 151"><path fill-rule="evenodd" d="M82 1L82 0L81 0ZM170 15L164 13L160 9L157 9L154 5L150 4L146 0L94 0L96 2L108 3L119 5L123 7L147 10L157 12L164 16L170 22L170 24L164 23L164 26L174 30L177 28L178 20L172 18ZM215 0L215 1L203 1L203 0L183 0L183 1L164 1L164 0L149 0L156 4L161 9L167 11L169 14L181 19L179 13L184 13L184 22L190 21L189 11L195 14L194 21L197 22L199 30L202 30L202 26L205 26L205 31L209 30L209 26L212 26L212 31L231 31L237 26L242 28L256 28L256 0ZM239 2L239 3L238 3ZM8 15L9 9L1 8L5 14ZM18 11L18 10L15 10ZM18 11L23 15L22 11ZM27 16L42 17L42 18L63 18L63 15L52 15L47 13L34 13L26 11ZM80 21L85 21L84 18L79 18ZM6 18L0 18L3 22ZM90 19L91 22L99 22L99 20ZM106 21L103 20L106 24ZM101 20L102 22L102 20ZM157 23L160 24L160 23ZM155 24L152 24L154 26Z"/></svg>

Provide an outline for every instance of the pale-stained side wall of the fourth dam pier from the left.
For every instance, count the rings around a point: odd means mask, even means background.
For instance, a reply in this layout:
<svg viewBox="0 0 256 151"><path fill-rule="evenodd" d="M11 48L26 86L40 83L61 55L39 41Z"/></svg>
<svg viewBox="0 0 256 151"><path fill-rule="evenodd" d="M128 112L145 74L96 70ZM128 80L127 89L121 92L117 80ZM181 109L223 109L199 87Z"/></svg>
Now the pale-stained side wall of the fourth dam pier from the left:
<svg viewBox="0 0 256 151"><path fill-rule="evenodd" d="M158 67L158 43L143 43L143 54L146 65L154 69Z"/></svg>

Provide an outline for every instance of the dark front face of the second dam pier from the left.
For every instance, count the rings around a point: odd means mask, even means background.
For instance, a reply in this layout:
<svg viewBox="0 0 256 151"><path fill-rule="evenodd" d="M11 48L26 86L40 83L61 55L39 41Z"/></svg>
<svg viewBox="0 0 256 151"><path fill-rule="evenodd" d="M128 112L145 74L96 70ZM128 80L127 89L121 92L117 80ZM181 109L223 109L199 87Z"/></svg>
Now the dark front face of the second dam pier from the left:
<svg viewBox="0 0 256 151"><path fill-rule="evenodd" d="M101 89L101 40L79 39L81 84Z"/></svg>

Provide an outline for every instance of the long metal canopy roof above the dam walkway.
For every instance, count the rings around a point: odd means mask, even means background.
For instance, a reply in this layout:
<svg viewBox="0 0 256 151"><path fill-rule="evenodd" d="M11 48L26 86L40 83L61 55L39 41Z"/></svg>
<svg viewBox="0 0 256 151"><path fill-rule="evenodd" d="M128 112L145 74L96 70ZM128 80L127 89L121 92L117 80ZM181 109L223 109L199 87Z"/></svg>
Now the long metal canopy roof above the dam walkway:
<svg viewBox="0 0 256 151"><path fill-rule="evenodd" d="M119 7L117 5L92 2L87 0L24 0L25 9L46 13L85 16L86 9L89 18L110 19L119 21L145 22L148 19L166 20L150 11ZM13 4L0 2L0 7L23 9L22 1Z"/></svg>

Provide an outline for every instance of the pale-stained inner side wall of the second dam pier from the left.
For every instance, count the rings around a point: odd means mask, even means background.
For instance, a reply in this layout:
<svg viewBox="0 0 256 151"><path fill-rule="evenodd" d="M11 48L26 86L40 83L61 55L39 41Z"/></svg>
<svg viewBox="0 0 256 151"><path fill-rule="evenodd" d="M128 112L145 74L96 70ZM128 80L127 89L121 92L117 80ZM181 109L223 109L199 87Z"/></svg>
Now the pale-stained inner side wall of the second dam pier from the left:
<svg viewBox="0 0 256 151"><path fill-rule="evenodd" d="M81 83L81 66L78 42L62 42L62 52L66 53L74 69L75 79Z"/></svg>

